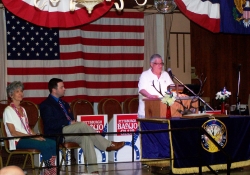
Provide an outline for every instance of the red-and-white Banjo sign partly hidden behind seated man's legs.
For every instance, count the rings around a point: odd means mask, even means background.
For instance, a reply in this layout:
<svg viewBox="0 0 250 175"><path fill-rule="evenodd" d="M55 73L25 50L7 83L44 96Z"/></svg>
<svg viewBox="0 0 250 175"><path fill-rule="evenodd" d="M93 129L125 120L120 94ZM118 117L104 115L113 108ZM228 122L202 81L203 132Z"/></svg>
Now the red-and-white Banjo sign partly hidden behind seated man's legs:
<svg viewBox="0 0 250 175"><path fill-rule="evenodd" d="M106 139L106 133L108 131L107 115L77 115L78 122L85 122L87 125L91 126L96 132L102 133L102 136ZM107 163L108 154L105 150L99 150L95 147L97 163ZM84 150L81 148L75 151L75 158L77 164L84 164Z"/></svg>

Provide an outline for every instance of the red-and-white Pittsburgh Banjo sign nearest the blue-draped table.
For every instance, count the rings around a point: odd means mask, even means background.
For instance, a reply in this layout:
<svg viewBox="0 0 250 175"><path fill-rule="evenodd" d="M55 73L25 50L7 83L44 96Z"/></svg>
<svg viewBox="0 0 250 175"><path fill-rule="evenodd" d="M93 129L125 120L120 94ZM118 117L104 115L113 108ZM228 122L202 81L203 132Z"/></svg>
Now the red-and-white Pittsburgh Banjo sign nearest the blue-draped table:
<svg viewBox="0 0 250 175"><path fill-rule="evenodd" d="M137 122L137 114L114 114L109 122L108 132L118 132L117 134L109 135L109 139L119 142L125 141L125 146L118 151L109 153L109 161L126 162L132 161L132 154L134 153L134 161L140 160L141 148L139 137L139 126ZM131 133L136 132L134 136ZM134 137L134 143L132 143ZM134 147L134 149L133 149Z"/></svg>

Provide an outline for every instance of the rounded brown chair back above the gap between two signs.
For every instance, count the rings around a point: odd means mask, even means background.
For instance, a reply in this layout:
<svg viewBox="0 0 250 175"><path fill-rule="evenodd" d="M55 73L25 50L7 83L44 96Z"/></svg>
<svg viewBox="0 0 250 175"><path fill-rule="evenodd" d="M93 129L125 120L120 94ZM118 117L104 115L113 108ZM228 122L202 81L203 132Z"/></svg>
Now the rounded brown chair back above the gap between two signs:
<svg viewBox="0 0 250 175"><path fill-rule="evenodd" d="M113 118L114 114L122 114L122 107L119 101L115 99L107 99L102 106L104 114L108 115L108 122Z"/></svg>

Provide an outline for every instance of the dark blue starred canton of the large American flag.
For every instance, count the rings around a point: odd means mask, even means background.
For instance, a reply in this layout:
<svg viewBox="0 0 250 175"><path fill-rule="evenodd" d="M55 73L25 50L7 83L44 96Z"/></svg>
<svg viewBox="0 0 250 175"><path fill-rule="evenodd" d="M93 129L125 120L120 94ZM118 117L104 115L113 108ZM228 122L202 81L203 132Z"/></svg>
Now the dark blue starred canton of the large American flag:
<svg viewBox="0 0 250 175"><path fill-rule="evenodd" d="M59 31L38 27L6 13L8 60L60 59Z"/></svg>

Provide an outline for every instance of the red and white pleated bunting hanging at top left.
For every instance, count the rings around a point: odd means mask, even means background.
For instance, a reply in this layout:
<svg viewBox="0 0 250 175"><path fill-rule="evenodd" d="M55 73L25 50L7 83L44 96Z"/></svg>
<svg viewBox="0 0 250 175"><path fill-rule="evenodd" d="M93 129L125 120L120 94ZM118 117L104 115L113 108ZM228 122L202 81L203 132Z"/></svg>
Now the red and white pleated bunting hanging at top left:
<svg viewBox="0 0 250 175"><path fill-rule="evenodd" d="M76 8L75 11L70 11L69 0L61 0L57 6L52 6L49 0L41 0L39 5L44 4L41 9L34 6L34 0L2 0L2 3L16 16L38 26L69 28L100 18L110 10L114 0L96 5L91 14L88 14L86 8Z"/></svg>

